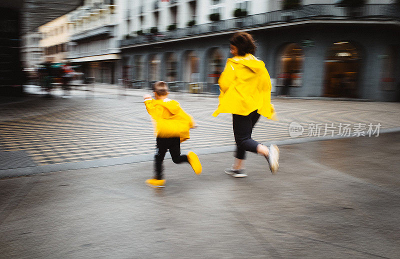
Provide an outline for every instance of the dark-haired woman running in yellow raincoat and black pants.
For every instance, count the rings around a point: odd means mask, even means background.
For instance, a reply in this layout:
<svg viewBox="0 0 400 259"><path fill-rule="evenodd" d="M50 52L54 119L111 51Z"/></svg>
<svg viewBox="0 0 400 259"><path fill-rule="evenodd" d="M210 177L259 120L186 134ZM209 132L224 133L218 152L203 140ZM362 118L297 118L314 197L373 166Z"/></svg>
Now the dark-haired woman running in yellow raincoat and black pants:
<svg viewBox="0 0 400 259"><path fill-rule="evenodd" d="M218 83L220 88L218 108L212 113L232 113L233 134L237 145L235 160L225 173L234 177L247 176L243 170L245 151L263 155L272 173L279 168L279 149L272 144L266 147L251 138L259 115L274 119L270 102L271 81L264 62L253 56L255 44L246 32L234 33L229 40L230 53Z"/></svg>

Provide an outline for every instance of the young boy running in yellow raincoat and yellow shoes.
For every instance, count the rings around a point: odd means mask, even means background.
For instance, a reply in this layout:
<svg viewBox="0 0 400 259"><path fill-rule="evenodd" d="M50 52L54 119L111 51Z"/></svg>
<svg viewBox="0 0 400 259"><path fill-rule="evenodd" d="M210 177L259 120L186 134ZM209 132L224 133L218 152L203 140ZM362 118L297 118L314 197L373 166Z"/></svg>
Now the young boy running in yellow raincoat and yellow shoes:
<svg viewBox="0 0 400 259"><path fill-rule="evenodd" d="M180 154L180 142L189 138L189 129L193 128L192 118L180 107L179 102L167 98L168 85L164 81L154 83L154 99L150 94L144 94L144 104L148 114L154 120L156 133L156 149L154 153L155 175L146 180L150 187L164 187L162 162L169 149L174 163L188 162L196 174L201 173L202 167L197 155L189 151Z"/></svg>

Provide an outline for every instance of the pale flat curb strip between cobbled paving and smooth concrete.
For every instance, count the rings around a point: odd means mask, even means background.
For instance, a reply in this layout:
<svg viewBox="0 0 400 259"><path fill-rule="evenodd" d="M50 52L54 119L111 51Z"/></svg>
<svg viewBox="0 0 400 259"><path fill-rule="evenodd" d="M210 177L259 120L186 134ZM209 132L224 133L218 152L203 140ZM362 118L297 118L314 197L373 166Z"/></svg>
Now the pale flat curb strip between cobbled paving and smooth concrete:
<svg viewBox="0 0 400 259"><path fill-rule="evenodd" d="M400 132L400 127L382 129L382 130L380 130L379 133L392 133L392 132ZM368 136L364 136L364 137L368 137ZM299 144L299 143L305 143L305 142L333 140L333 139L341 139L341 138L353 138L353 136L336 135L333 137L325 136L325 137L290 138L290 139L284 139L284 140L277 140L277 141L273 141L273 142L267 142L267 143L263 143L263 144L265 144L267 146L269 146L272 143L277 144L277 145L291 145L291 144ZM197 153L198 155L204 155L204 154L231 152L231 151L234 151L235 149L236 149L236 145L226 145L226 146L194 149L193 151L195 153ZM187 150L182 150L182 153L186 153L186 152L187 152ZM165 159L170 159L170 158L171 158L170 154L166 153ZM0 179L6 178L6 177L31 175L31 174L36 174L36 173L104 167L104 166L137 163L137 162L145 162L145 161L152 161L152 160L153 160L153 154L139 154L139 155L132 155L132 156L87 160L87 161L79 161L79 162L56 163L56 164L48 164L48 165L35 165L35 166L29 166L29 167L10 168L10 169L0 170Z"/></svg>

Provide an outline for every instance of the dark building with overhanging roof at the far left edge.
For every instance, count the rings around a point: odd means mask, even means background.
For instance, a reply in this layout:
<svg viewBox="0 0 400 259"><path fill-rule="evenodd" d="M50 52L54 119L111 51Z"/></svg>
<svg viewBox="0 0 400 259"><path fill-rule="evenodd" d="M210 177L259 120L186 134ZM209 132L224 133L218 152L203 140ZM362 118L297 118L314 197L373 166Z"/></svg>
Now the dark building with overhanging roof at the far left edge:
<svg viewBox="0 0 400 259"><path fill-rule="evenodd" d="M38 27L81 4L82 0L0 1L0 96L22 94L26 71L34 69L39 58Z"/></svg>

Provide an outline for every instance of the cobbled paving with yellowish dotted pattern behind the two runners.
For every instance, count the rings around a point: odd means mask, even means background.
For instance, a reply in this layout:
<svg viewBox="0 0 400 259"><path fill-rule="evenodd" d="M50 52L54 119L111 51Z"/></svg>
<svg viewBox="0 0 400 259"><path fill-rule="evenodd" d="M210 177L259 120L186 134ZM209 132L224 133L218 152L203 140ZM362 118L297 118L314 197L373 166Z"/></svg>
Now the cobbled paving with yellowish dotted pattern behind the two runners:
<svg viewBox="0 0 400 259"><path fill-rule="evenodd" d="M45 165L153 152L152 122L141 101L143 90L128 91L123 98L106 90L90 99L85 94L71 98L35 96L24 102L0 105L0 154L22 152L34 164ZM180 102L197 125L190 132L191 138L181 144L182 150L234 144L231 115L211 116L216 97L180 93L171 93L170 97ZM346 134L356 134L354 130L359 128L360 133L371 133L371 137L377 135L378 123L379 130L400 127L399 103L313 99L272 102L279 121L261 117L253 131L257 141L291 138L291 122L304 128L298 137L323 135L325 124L328 135L343 134L343 126L348 123L351 132ZM368 132L370 123L372 131ZM8 163L0 169L17 167L18 164Z"/></svg>

